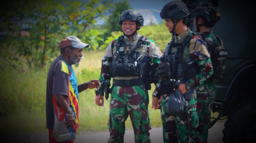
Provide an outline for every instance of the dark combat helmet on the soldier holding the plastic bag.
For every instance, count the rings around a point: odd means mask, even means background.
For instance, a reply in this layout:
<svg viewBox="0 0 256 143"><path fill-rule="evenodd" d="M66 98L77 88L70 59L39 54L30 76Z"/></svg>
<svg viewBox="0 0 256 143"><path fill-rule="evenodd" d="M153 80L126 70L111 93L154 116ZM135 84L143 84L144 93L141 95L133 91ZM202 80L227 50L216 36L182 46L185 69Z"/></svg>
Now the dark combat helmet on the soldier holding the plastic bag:
<svg viewBox="0 0 256 143"><path fill-rule="evenodd" d="M164 5L160 11L162 19L181 20L190 15L187 5L181 1L172 1Z"/></svg>

